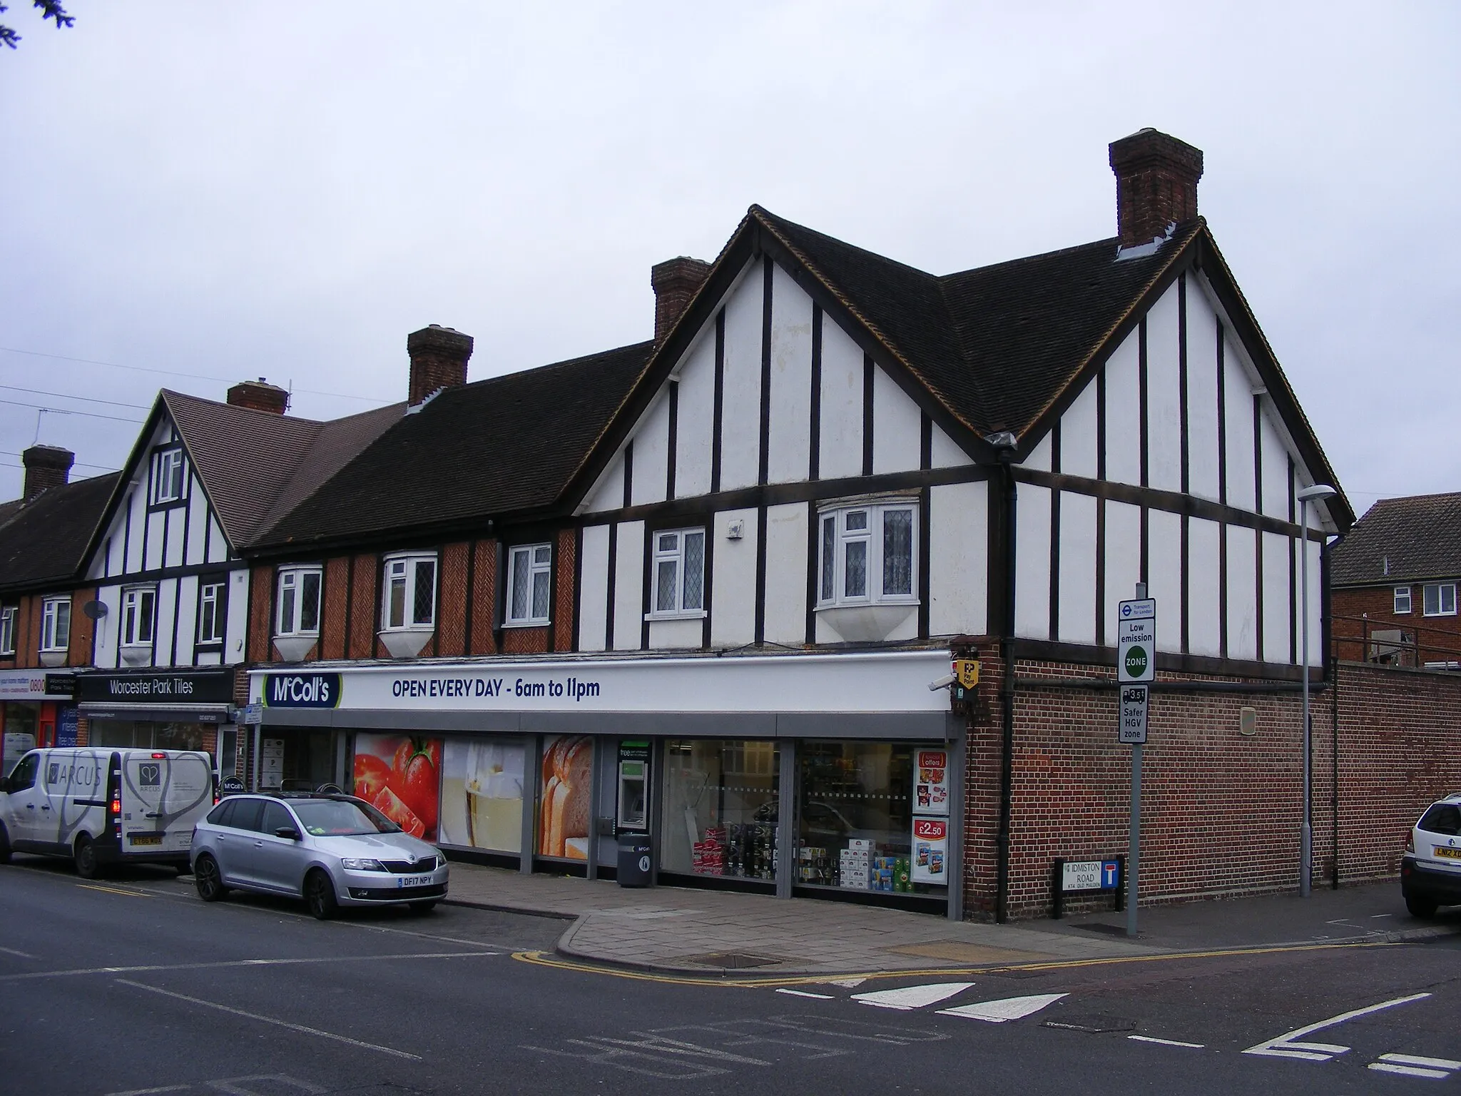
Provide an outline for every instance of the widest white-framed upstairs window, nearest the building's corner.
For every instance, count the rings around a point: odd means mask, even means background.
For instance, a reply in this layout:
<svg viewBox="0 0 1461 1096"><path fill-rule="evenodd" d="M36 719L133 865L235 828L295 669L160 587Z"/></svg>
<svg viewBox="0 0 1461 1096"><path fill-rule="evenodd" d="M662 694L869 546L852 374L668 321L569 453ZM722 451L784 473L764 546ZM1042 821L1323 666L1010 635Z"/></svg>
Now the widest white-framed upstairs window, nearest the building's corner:
<svg viewBox="0 0 1461 1096"><path fill-rule="evenodd" d="M918 601L918 504L839 506L818 513L817 605Z"/></svg>

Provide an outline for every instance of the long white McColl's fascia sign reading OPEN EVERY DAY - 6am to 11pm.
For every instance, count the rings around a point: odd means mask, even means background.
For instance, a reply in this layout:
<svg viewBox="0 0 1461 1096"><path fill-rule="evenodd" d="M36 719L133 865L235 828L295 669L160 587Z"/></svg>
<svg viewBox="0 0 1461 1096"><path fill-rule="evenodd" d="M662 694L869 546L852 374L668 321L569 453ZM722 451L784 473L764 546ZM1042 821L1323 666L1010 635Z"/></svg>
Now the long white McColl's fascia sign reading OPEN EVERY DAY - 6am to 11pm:
<svg viewBox="0 0 1461 1096"><path fill-rule="evenodd" d="M251 671L266 709L947 712L947 650ZM942 703L941 703L942 701Z"/></svg>

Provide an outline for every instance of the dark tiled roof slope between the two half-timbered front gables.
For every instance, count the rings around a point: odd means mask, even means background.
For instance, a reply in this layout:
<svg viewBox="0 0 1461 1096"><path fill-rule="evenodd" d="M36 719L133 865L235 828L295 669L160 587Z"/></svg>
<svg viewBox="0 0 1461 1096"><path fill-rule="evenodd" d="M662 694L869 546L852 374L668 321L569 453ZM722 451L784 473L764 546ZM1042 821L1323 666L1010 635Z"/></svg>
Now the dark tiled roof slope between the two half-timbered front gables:
<svg viewBox="0 0 1461 1096"><path fill-rule="evenodd" d="M653 343L449 387L257 538L311 545L552 506Z"/></svg>

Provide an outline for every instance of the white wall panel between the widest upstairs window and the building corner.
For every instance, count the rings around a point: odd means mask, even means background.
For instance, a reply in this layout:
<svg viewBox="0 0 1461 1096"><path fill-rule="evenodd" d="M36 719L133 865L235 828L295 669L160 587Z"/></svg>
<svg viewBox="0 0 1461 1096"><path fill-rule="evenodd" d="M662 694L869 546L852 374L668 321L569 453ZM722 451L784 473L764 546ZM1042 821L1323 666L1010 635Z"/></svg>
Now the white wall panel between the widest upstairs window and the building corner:
<svg viewBox="0 0 1461 1096"><path fill-rule="evenodd" d="M928 526L929 634L983 636L989 630L989 484L929 488Z"/></svg>

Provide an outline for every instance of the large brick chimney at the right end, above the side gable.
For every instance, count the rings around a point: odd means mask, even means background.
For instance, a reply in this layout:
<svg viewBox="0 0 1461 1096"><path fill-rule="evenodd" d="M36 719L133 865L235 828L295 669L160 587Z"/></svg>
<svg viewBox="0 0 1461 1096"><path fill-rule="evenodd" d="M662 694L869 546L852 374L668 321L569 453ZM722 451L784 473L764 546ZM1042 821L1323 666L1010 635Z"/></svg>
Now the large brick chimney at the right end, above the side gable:
<svg viewBox="0 0 1461 1096"><path fill-rule="evenodd" d="M1167 225L1197 216L1202 149L1154 129L1137 130L1110 143L1110 170L1122 247L1150 244Z"/></svg>

